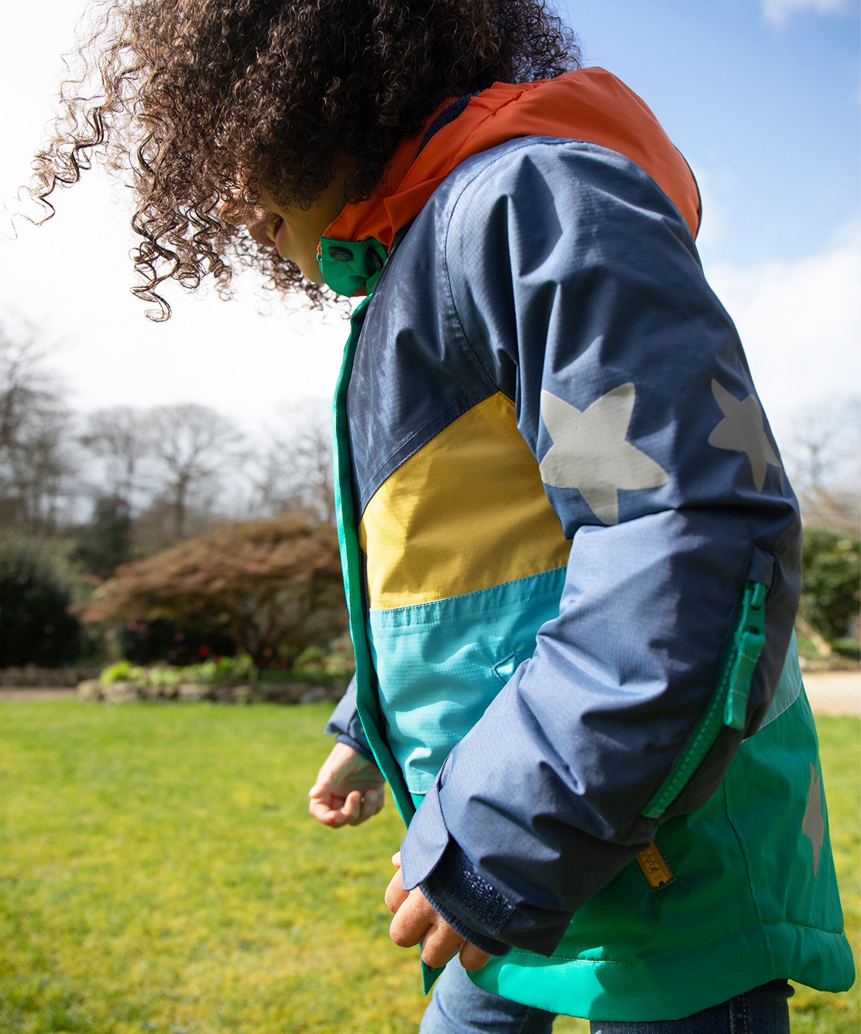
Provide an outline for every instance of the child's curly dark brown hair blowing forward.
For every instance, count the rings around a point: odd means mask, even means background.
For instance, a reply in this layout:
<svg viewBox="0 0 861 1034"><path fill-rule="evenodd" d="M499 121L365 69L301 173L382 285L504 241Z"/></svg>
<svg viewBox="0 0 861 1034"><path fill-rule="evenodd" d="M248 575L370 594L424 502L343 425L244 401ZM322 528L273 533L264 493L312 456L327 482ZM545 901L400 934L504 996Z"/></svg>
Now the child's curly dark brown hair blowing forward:
<svg viewBox="0 0 861 1034"><path fill-rule="evenodd" d="M260 187L307 207L355 160L347 201L371 196L398 144L445 98L558 75L577 40L545 0L102 0L34 160L31 194L94 161L129 177L142 238L133 294L165 320L166 279L225 294L237 266L281 291L325 288L254 243Z"/></svg>

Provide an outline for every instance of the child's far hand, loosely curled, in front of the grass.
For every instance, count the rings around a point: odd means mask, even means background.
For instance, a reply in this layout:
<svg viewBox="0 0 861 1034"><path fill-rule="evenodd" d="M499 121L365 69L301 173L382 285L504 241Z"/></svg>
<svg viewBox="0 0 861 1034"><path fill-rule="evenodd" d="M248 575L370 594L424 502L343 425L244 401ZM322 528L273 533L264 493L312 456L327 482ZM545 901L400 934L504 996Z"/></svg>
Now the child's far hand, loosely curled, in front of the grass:
<svg viewBox="0 0 861 1034"><path fill-rule="evenodd" d="M336 743L308 796L308 811L325 826L358 826L382 808L386 783L373 761L346 743Z"/></svg>

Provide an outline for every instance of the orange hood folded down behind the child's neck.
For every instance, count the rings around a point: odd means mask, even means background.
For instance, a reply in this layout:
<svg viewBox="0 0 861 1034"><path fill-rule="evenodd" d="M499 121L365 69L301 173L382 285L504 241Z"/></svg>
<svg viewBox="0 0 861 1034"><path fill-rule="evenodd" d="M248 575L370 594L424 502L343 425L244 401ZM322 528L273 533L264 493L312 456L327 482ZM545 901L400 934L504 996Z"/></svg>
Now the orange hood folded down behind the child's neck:
<svg viewBox="0 0 861 1034"><path fill-rule="evenodd" d="M687 162L646 104L604 68L581 68L519 86L494 83L422 148L425 131L449 103L430 116L419 135L403 141L382 187L369 201L347 205L326 231L327 238L374 238L389 248L395 234L416 218L463 160L517 136L583 140L625 155L651 176L697 236L700 193Z"/></svg>

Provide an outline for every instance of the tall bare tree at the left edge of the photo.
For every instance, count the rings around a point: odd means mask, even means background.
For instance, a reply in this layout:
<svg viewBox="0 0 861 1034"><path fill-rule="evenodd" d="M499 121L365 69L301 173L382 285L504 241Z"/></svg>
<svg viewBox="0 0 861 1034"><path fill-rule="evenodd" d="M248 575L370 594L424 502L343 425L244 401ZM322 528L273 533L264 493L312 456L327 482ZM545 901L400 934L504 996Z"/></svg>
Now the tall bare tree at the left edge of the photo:
<svg viewBox="0 0 861 1034"><path fill-rule="evenodd" d="M73 500L72 418L31 327L0 325L0 520L56 530Z"/></svg>

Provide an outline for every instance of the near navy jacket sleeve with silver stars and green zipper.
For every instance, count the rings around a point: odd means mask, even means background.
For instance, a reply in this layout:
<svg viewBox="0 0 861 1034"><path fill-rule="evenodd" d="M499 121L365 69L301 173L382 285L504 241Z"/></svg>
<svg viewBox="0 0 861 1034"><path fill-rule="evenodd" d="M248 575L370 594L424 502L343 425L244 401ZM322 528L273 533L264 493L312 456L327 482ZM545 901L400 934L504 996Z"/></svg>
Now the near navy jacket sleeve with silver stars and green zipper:
<svg viewBox="0 0 861 1034"><path fill-rule="evenodd" d="M449 756L402 873L461 929L550 954L756 732L792 633L799 519L735 328L655 183L576 142L475 169L439 290L572 548L558 617Z"/></svg>

